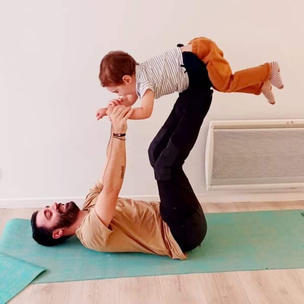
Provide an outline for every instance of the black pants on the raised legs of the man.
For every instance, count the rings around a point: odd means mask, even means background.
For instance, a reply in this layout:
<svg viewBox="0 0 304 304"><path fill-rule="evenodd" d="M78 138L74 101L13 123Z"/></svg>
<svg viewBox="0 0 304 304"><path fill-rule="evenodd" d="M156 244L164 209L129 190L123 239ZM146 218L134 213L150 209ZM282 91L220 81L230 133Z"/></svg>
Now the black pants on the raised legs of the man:
<svg viewBox="0 0 304 304"><path fill-rule="evenodd" d="M148 155L158 184L161 216L185 252L200 245L207 233L204 212L182 165L197 140L213 91L204 63L191 52L182 55L189 87L179 94ZM202 167L199 161L198 169Z"/></svg>

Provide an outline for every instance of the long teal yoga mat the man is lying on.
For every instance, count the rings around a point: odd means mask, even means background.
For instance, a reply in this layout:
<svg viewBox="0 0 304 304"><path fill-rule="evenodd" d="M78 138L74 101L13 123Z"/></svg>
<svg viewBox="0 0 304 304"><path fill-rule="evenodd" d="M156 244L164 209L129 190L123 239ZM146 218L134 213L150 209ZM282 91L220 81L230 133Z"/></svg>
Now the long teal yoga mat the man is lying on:
<svg viewBox="0 0 304 304"><path fill-rule="evenodd" d="M188 273L304 268L301 210L206 214L208 232L187 260L143 253L102 253L72 237L44 247L31 238L29 220L10 220L0 252L47 269L34 283Z"/></svg>

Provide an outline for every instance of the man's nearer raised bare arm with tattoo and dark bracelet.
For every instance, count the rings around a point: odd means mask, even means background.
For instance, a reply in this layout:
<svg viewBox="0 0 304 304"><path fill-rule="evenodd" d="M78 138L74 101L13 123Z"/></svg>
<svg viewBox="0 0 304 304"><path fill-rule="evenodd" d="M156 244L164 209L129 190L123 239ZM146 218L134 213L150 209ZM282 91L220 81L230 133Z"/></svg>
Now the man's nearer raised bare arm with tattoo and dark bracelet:
<svg viewBox="0 0 304 304"><path fill-rule="evenodd" d="M132 109L125 106L117 106L111 113L112 131L114 133L125 133L127 130L127 119L132 114ZM103 189L98 195L95 210L99 219L108 226L117 204L121 190L125 168L126 168L126 146L125 141L112 138L109 142L109 159L103 175Z"/></svg>

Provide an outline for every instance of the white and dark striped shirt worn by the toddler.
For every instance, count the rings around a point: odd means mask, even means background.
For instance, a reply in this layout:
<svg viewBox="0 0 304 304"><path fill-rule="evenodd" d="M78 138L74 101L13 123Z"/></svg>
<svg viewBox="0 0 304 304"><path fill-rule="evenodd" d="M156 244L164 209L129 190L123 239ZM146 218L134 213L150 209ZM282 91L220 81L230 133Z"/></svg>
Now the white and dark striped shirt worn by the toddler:
<svg viewBox="0 0 304 304"><path fill-rule="evenodd" d="M182 52L176 47L136 65L137 96L142 98L147 89L154 92L155 99L185 91L189 86L189 78L181 64L183 64Z"/></svg>

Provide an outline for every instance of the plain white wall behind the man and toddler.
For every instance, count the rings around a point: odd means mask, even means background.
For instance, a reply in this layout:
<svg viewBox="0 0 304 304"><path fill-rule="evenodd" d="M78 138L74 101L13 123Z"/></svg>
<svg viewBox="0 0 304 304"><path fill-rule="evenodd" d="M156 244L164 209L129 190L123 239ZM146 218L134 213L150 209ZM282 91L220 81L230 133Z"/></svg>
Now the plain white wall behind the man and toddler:
<svg viewBox="0 0 304 304"><path fill-rule="evenodd" d="M109 121L95 121L110 93L99 63L121 49L143 61L203 35L233 70L280 62L285 88L272 106L260 96L214 92L184 169L206 193L210 120L304 118L301 1L2 1L0 5L0 199L84 197L105 161ZM130 121L122 195L157 195L147 147L177 94L155 102L149 120Z"/></svg>

